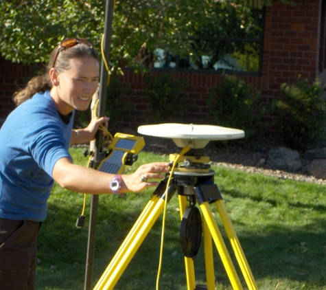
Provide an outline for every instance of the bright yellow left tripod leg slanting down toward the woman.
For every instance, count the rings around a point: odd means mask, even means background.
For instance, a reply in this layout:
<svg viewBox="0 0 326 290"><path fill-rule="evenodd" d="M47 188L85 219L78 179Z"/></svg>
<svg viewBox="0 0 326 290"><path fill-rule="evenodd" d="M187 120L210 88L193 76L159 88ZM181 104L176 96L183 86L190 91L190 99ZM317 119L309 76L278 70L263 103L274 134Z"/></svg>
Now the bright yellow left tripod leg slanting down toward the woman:
<svg viewBox="0 0 326 290"><path fill-rule="evenodd" d="M132 230L130 230L124 243L120 246L117 254L115 254L113 260L106 268L106 271L104 271L104 274L95 285L94 290L113 289L115 287L115 284L124 273L124 270L136 254L137 249L139 249L148 232L150 232L163 208L164 199L153 196L132 227Z"/></svg>

